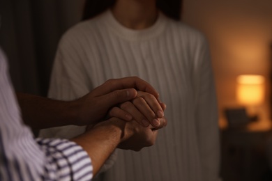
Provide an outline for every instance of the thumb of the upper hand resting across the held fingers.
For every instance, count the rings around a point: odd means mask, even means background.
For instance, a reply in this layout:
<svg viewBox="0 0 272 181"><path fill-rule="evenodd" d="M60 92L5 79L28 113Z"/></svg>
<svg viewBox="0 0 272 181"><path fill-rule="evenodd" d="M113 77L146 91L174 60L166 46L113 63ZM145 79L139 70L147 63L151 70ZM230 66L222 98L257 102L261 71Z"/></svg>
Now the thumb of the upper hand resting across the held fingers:
<svg viewBox="0 0 272 181"><path fill-rule="evenodd" d="M136 95L137 91L134 88L126 88L103 95L100 99L107 107L113 107L116 104L132 100Z"/></svg>

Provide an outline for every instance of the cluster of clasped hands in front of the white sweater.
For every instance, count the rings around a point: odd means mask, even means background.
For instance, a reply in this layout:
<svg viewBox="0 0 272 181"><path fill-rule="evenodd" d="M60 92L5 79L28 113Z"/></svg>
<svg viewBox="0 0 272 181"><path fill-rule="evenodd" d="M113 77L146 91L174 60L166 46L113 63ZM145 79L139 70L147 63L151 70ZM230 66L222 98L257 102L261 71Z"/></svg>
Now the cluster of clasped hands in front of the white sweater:
<svg viewBox="0 0 272 181"><path fill-rule="evenodd" d="M138 77L110 79L77 102L80 125L99 126L106 115L109 124L114 121L122 124L119 144L122 149L138 151L153 145L158 129L167 125L165 104L158 100L155 89Z"/></svg>

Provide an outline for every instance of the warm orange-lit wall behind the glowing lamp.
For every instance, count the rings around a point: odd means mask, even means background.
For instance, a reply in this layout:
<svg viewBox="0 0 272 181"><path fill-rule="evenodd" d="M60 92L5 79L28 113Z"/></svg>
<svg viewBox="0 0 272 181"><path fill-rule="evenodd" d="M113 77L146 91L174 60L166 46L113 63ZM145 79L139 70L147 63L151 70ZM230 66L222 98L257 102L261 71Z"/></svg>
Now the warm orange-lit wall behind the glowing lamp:
<svg viewBox="0 0 272 181"><path fill-rule="evenodd" d="M263 74L269 79L271 7L271 0L183 1L183 21L204 32L211 45L221 117L223 109L237 105L238 74ZM268 99L269 94L266 96ZM268 110L266 103L264 117L269 116Z"/></svg>

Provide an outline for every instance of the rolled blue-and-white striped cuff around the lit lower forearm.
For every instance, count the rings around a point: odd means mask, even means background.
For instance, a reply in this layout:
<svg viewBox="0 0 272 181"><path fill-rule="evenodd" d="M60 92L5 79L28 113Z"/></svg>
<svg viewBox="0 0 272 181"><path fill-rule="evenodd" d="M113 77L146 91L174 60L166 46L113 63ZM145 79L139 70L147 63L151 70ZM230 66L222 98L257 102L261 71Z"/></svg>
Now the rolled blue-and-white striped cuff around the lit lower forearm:
<svg viewBox="0 0 272 181"><path fill-rule="evenodd" d="M91 180L91 158L80 145L66 139L36 139L45 152L45 179Z"/></svg>

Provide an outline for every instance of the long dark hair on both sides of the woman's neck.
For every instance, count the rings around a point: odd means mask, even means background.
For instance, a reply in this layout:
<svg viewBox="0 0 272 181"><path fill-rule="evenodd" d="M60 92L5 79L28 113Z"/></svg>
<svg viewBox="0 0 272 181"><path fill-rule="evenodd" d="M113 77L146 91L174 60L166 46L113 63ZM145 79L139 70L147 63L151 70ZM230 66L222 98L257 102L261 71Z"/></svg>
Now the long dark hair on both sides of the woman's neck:
<svg viewBox="0 0 272 181"><path fill-rule="evenodd" d="M82 20L90 19L114 5L115 0L86 0ZM157 0L157 7L167 17L181 19L181 0Z"/></svg>

